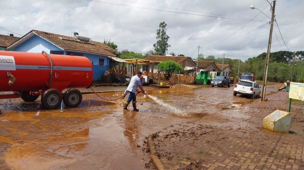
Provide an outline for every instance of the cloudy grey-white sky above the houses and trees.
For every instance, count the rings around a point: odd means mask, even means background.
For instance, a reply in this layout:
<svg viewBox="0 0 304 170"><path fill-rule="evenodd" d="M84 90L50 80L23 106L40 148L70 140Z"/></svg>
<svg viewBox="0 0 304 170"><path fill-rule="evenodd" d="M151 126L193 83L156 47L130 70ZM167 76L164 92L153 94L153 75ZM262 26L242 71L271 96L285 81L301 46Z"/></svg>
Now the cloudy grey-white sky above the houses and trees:
<svg viewBox="0 0 304 170"><path fill-rule="evenodd" d="M35 29L103 42L118 51L153 50L159 23L167 24L168 53L246 60L267 51L271 0L0 0L0 34ZM257 9L250 9L253 5ZM272 4L273 5L273 4ZM264 14L259 10L263 10ZM278 0L271 52L304 50L304 1ZM251 20L251 21L250 21ZM278 30L279 28L279 30ZM280 35L282 34L282 37ZM275 35L276 34L276 35ZM276 38L277 36L277 38ZM287 49L287 47L288 49Z"/></svg>

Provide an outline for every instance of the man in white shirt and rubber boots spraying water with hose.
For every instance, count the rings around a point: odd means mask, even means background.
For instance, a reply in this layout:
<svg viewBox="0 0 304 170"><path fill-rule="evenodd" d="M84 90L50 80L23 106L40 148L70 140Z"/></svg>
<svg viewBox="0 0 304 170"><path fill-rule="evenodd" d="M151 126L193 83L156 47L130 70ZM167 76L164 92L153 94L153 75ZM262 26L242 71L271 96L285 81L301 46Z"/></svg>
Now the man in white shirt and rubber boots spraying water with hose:
<svg viewBox="0 0 304 170"><path fill-rule="evenodd" d="M146 94L143 90L143 87L141 86L140 77L142 73L140 71L136 72L136 75L133 76L130 80L129 86L127 87L127 92L129 92L129 97L123 106L123 110L128 110L127 107L129 106L130 102L132 101L133 110L138 112L139 110L136 108L136 90L137 87L141 90L143 94Z"/></svg>

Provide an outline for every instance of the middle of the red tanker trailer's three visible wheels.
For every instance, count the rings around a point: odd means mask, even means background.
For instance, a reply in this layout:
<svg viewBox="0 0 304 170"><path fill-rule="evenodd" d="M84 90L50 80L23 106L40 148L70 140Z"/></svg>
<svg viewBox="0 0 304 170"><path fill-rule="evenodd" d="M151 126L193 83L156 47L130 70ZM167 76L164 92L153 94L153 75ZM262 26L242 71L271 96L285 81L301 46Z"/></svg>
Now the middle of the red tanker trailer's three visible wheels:
<svg viewBox="0 0 304 170"><path fill-rule="evenodd" d="M47 109L56 109L62 101L62 93L56 89L48 89L41 98L42 105Z"/></svg>

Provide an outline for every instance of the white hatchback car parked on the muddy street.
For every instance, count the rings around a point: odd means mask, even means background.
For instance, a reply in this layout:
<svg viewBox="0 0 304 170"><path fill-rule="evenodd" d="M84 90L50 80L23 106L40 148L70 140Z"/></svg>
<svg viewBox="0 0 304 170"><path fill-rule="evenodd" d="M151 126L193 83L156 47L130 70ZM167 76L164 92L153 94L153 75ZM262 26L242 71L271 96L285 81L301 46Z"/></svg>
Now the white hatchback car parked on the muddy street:
<svg viewBox="0 0 304 170"><path fill-rule="evenodd" d="M240 80L234 86L233 96L236 96L237 94L250 96L251 99L254 99L255 97L260 98L261 87L256 82Z"/></svg>

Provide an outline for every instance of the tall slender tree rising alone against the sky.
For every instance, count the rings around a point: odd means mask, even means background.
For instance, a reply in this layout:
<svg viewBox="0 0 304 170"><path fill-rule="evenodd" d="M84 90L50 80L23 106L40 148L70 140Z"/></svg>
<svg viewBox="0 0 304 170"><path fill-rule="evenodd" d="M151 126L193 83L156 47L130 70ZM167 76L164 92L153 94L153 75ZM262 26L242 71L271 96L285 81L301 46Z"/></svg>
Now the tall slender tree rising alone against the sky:
<svg viewBox="0 0 304 170"><path fill-rule="evenodd" d="M168 51L168 47L171 45L168 44L168 39L170 38L166 31L167 24L165 22L161 22L159 24L159 29L156 30L156 44L153 44L154 50L158 55L166 55Z"/></svg>

